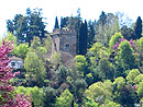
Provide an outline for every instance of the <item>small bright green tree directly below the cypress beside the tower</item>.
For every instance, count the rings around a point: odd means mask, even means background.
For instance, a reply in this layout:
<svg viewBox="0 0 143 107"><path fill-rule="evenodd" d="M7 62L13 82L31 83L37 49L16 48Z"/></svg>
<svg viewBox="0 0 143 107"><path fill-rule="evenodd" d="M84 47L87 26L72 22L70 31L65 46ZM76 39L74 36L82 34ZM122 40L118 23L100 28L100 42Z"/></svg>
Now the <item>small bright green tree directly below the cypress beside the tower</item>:
<svg viewBox="0 0 143 107"><path fill-rule="evenodd" d="M85 72L85 70L86 70L86 68L87 68L86 58L85 58L85 56L77 55L75 57L75 60L76 60L76 68L81 73L81 75L82 75L84 72Z"/></svg>

